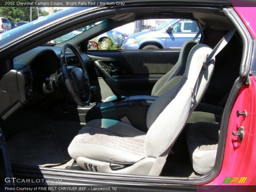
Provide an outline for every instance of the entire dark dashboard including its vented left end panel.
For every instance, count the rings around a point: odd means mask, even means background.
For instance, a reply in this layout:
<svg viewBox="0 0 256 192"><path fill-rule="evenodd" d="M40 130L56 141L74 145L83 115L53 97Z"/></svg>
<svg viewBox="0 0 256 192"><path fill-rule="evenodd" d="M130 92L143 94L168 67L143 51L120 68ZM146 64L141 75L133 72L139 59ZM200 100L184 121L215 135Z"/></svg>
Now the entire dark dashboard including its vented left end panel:
<svg viewBox="0 0 256 192"><path fill-rule="evenodd" d="M0 115L10 108L16 110L38 93L44 93L46 78L61 68L61 49L62 47L39 46L13 59L13 69L2 77L0 83L0 90L6 90L0 92L0 97L6 98L0 101ZM86 67L89 67L92 60L85 53L80 54ZM66 60L68 66L79 65L71 50L67 50Z"/></svg>

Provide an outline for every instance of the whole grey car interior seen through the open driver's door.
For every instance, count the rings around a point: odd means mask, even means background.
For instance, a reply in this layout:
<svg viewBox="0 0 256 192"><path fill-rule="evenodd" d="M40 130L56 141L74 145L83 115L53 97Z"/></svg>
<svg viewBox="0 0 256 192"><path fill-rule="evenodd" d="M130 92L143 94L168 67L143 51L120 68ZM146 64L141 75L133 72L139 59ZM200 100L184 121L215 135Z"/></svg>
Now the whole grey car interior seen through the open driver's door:
<svg viewBox="0 0 256 192"><path fill-rule="evenodd" d="M202 10L117 13L66 42L13 58L12 70L0 78L0 127L12 167L186 178L210 173L244 47L224 12ZM90 39L118 26L161 18L195 20L204 28L199 43L87 49Z"/></svg>

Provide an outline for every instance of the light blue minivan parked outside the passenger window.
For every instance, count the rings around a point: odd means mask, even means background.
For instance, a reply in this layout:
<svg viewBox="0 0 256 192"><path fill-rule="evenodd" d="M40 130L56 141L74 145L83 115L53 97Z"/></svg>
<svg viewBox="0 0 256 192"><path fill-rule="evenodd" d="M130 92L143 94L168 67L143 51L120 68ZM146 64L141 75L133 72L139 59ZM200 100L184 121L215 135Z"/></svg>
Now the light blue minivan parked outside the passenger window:
<svg viewBox="0 0 256 192"><path fill-rule="evenodd" d="M129 36L124 41L122 50L180 48L185 41L193 39L198 30L196 21L172 19L155 29L147 29ZM197 42L200 37L196 39Z"/></svg>

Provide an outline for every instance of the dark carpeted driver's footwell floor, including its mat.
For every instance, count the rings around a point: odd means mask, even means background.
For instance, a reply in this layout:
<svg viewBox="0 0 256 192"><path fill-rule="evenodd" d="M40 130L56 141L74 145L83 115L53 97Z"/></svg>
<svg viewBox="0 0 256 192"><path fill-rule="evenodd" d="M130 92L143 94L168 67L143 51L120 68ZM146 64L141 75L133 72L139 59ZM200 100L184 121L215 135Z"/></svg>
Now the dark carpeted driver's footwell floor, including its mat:
<svg viewBox="0 0 256 192"><path fill-rule="evenodd" d="M84 123L58 121L27 108L1 126L11 164L58 166L71 160L68 146Z"/></svg>

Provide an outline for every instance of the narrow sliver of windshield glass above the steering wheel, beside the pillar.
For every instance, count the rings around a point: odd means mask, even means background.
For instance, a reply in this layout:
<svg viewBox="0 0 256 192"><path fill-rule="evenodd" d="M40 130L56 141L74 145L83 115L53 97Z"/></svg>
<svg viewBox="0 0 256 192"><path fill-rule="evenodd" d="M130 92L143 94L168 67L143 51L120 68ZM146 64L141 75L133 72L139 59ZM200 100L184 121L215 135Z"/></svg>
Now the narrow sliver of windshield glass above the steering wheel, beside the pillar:
<svg viewBox="0 0 256 192"><path fill-rule="evenodd" d="M51 44L59 44L59 43L68 41L69 39L74 38L75 36L77 36L77 35L83 33L84 31L87 31L87 30L90 29L90 28L93 28L93 27L99 25L100 23L102 23L102 22L104 22L104 21L106 21L106 20L102 20L102 21L99 21L99 22L97 22L97 23L93 23L93 24L91 24L91 25L87 25L87 26L85 26L85 27L83 27L83 28L80 28L80 29L77 29L77 30L75 30L75 31L72 31L72 32L70 32L70 33L68 33L68 34L66 34L66 35L60 36L60 37L58 37L58 38L56 38L56 39L50 41L49 43L51 43Z"/></svg>

